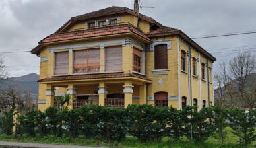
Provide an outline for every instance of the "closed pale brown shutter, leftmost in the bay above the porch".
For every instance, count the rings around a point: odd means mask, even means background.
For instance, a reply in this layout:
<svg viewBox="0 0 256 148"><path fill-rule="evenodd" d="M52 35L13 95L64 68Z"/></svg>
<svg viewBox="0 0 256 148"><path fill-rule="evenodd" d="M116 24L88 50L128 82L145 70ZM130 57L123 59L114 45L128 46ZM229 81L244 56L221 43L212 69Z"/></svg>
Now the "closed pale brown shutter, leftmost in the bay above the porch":
<svg viewBox="0 0 256 148"><path fill-rule="evenodd" d="M69 73L69 52L55 53L55 75Z"/></svg>

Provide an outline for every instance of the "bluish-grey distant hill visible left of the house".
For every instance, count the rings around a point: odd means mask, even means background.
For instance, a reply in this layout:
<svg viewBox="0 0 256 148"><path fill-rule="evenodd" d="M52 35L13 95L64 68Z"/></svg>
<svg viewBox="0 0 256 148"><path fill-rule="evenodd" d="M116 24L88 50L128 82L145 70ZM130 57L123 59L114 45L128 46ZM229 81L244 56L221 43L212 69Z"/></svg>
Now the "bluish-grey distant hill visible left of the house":
<svg viewBox="0 0 256 148"><path fill-rule="evenodd" d="M22 94L26 91L30 91L33 96L38 96L38 79L39 75L36 73L30 73L21 77L11 77L0 82L0 89L11 86L16 87Z"/></svg>

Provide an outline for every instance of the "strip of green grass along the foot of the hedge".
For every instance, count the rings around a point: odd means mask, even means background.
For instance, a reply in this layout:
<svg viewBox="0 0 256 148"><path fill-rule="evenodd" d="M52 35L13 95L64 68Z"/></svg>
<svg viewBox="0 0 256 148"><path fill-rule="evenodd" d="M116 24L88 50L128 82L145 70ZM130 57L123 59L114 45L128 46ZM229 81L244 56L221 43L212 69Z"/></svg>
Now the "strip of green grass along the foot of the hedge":
<svg viewBox="0 0 256 148"><path fill-rule="evenodd" d="M109 142L101 141L96 139L85 139L80 136L79 138L72 139L71 137L55 137L49 135L46 137L35 136L35 137L14 137L14 136L0 136L0 141L16 141L16 142L29 142L29 143L55 143L55 144L65 144L65 145L101 145L108 147L239 147L238 137L232 134L231 128L226 128L228 136L224 144L222 145L220 139L214 139L210 137L204 143L193 143L192 141L187 140L185 137L181 141L173 141L168 137L164 137L160 142L146 142L141 143L135 137L127 137L122 142ZM256 141L250 147L255 147Z"/></svg>

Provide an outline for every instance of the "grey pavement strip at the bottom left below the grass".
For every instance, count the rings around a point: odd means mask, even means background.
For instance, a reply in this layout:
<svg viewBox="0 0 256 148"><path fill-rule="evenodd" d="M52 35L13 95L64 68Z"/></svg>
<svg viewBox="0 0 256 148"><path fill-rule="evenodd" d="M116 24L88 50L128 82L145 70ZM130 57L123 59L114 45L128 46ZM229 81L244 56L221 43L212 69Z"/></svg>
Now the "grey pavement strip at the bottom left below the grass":
<svg viewBox="0 0 256 148"><path fill-rule="evenodd" d="M87 146L76 146L76 145L51 145L51 144L39 144L39 143L14 143L0 141L0 147L8 148L96 148Z"/></svg>

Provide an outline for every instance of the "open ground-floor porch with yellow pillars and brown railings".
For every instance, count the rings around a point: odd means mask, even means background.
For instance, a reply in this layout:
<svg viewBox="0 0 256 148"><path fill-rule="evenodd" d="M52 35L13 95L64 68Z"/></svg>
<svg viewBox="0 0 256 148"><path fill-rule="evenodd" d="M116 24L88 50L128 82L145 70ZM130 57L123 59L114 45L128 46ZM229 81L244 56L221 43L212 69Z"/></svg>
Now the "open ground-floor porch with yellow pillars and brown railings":
<svg viewBox="0 0 256 148"><path fill-rule="evenodd" d="M135 81L99 81L98 83L51 84L46 89L49 106L57 107L55 98L71 95L69 109L88 104L126 108L129 104L146 104L146 84Z"/></svg>

